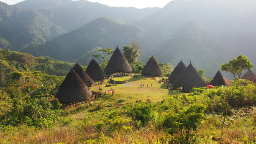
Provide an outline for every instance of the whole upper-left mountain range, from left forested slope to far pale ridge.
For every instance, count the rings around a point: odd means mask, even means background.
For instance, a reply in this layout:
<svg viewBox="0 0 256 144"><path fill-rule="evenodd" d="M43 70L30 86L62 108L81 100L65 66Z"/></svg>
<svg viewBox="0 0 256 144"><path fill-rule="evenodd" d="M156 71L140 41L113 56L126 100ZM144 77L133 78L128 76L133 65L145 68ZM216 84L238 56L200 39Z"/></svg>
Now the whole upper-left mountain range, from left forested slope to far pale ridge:
<svg viewBox="0 0 256 144"><path fill-rule="evenodd" d="M0 2L0 37L11 50L45 43L56 36L106 16L133 22L159 8L115 8L86 0L25 0L15 5Z"/></svg>

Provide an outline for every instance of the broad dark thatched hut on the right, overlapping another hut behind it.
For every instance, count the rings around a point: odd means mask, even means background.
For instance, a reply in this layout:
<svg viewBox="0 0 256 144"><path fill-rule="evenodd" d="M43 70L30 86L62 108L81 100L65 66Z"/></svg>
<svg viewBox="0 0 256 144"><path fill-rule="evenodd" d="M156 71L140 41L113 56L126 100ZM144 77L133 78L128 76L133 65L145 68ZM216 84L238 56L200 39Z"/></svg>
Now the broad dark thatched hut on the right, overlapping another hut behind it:
<svg viewBox="0 0 256 144"><path fill-rule="evenodd" d="M172 86L174 89L182 87L182 91L188 93L192 90L192 88L199 88L206 86L207 83L200 76L197 70L190 63L189 66L185 69L185 71L179 76L179 78L174 81Z"/></svg>

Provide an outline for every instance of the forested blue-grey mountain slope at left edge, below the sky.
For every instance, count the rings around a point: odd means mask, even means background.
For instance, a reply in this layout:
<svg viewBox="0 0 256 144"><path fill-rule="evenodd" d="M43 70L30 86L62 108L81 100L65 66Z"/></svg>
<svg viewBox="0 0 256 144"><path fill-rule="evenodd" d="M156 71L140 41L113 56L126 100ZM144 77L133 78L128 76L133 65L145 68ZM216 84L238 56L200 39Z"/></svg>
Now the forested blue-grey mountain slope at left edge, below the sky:
<svg viewBox="0 0 256 144"><path fill-rule="evenodd" d="M8 48L18 51L30 44L44 43L65 30L37 10L0 2L0 31L0 37L9 43Z"/></svg>

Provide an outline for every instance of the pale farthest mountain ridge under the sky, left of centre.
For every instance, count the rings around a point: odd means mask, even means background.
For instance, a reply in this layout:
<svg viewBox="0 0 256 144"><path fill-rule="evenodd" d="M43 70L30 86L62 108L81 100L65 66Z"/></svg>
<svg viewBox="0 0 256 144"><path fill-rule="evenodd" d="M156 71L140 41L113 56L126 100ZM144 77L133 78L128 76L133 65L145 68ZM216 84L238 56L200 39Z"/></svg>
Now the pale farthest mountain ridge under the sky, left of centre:
<svg viewBox="0 0 256 144"><path fill-rule="evenodd" d="M160 9L110 7L87 0L25 0L15 4L15 6L36 9L68 32L99 17L113 17L133 22L146 18L146 16Z"/></svg>

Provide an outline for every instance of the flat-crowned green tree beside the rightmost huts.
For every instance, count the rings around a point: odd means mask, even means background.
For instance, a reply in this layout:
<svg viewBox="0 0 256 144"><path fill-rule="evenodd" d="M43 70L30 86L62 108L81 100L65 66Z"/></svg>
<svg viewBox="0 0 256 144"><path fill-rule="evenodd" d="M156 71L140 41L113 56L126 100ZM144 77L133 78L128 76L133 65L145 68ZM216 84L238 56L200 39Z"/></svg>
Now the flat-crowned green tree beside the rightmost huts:
<svg viewBox="0 0 256 144"><path fill-rule="evenodd" d="M220 70L232 73L235 80L240 79L241 73L243 73L243 70L245 69L252 70L252 68L253 68L253 64L251 64L247 56L243 56L243 55L239 55L237 58L234 58L228 63L223 63L220 66Z"/></svg>

